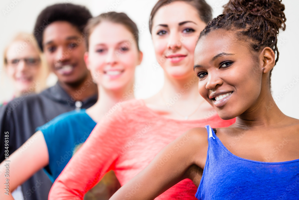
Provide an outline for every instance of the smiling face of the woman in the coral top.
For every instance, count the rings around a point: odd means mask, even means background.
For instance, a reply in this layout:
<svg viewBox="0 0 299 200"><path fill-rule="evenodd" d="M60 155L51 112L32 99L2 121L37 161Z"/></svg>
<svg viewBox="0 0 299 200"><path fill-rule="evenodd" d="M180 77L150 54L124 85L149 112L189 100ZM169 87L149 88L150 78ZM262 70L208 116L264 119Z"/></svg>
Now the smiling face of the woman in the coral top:
<svg viewBox="0 0 299 200"><path fill-rule="evenodd" d="M194 75L196 40L205 26L198 11L183 1L175 1L157 11L152 40L157 61L168 76L180 79Z"/></svg>

